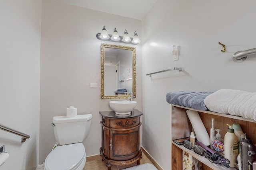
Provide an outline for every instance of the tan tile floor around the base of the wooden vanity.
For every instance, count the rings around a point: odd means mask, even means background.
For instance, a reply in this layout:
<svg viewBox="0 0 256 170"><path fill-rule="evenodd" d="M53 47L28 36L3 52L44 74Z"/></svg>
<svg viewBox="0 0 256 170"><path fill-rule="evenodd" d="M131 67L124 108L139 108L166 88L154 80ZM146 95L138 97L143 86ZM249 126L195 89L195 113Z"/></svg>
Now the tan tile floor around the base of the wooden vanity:
<svg viewBox="0 0 256 170"><path fill-rule="evenodd" d="M145 154L142 152L142 159L140 160L140 164L145 164L145 163L151 163L150 160L147 158ZM113 165L111 166L111 170L122 170L131 166L136 166L137 162L134 162L133 164L126 165L126 166L116 166ZM105 165L105 162L102 161L100 155L96 156L90 156L86 158L86 164L84 166L83 170L108 170L108 168Z"/></svg>

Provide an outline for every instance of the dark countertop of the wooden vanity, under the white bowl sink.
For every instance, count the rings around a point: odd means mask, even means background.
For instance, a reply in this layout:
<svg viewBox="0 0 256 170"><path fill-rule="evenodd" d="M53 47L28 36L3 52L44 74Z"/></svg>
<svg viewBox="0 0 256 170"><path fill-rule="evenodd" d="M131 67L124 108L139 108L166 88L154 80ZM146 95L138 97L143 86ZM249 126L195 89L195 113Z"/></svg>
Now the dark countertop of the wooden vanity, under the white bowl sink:
<svg viewBox="0 0 256 170"><path fill-rule="evenodd" d="M137 109L134 109L133 111L131 111L129 115L117 115L115 111L111 110L111 111L100 111L100 115L102 115L102 117L126 119L126 118L141 116L143 115L143 113Z"/></svg>

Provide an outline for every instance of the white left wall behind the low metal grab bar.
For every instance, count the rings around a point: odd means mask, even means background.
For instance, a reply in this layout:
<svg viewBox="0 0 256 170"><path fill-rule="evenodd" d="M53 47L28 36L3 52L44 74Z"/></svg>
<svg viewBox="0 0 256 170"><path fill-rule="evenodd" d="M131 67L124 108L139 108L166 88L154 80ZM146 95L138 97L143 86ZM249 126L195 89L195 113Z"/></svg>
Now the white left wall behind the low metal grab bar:
<svg viewBox="0 0 256 170"><path fill-rule="evenodd" d="M0 1L0 123L30 135L0 130L10 157L1 170L34 170L38 162L41 0Z"/></svg>

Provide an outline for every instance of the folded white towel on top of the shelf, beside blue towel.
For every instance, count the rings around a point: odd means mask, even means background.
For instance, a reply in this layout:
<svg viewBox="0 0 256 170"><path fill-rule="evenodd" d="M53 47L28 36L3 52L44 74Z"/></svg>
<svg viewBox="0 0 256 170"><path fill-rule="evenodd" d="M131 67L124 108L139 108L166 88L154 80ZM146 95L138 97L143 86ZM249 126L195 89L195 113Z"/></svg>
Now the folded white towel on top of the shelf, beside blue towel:
<svg viewBox="0 0 256 170"><path fill-rule="evenodd" d="M210 111L242 116L256 121L256 93L221 89L204 99Z"/></svg>

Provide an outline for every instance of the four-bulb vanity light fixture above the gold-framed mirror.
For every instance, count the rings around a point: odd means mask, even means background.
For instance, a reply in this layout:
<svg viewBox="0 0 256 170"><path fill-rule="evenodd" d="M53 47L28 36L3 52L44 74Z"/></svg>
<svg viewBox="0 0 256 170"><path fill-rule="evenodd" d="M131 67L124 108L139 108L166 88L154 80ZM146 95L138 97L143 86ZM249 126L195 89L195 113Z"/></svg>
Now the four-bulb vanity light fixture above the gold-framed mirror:
<svg viewBox="0 0 256 170"><path fill-rule="evenodd" d="M124 37L119 36L116 28L114 29L113 35L108 34L105 26L103 26L102 32L96 34L97 39L104 41L113 41L118 43L134 44L140 43L137 31L134 32L134 37L130 38L127 30L124 30Z"/></svg>

